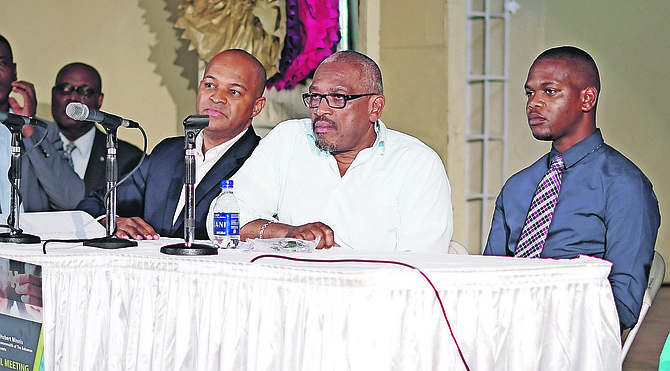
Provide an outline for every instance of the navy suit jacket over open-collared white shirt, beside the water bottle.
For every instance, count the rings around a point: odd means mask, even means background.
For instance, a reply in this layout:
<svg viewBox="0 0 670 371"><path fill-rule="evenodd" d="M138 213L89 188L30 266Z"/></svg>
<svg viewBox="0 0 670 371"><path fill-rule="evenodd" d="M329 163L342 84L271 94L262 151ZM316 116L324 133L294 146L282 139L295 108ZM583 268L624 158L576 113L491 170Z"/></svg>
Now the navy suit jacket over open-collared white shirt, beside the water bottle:
<svg viewBox="0 0 670 371"><path fill-rule="evenodd" d="M209 205L220 192L221 179L229 179L258 145L260 137L252 127L233 144L207 172L195 190L195 238L208 239L205 225ZM133 176L116 192L116 211L121 217L139 216L164 237L184 237L184 210L172 224L184 187L184 137L164 139ZM196 169L197 171L197 169ZM105 214L104 190L85 197L77 209L94 217Z"/></svg>

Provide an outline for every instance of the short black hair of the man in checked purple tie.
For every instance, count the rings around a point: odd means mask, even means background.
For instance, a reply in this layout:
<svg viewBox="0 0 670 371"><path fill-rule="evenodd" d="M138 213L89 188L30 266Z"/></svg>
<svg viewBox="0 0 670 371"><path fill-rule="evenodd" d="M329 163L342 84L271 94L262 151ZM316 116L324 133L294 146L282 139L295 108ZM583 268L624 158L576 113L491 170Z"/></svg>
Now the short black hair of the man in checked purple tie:
<svg viewBox="0 0 670 371"><path fill-rule="evenodd" d="M560 60L565 62L567 68L570 70L570 75L574 78L574 82L579 85L579 88L586 88L593 86L600 92L600 74L596 62L582 49L574 46L559 46L545 50L540 54L533 65L541 60ZM532 66L531 66L532 68Z"/></svg>

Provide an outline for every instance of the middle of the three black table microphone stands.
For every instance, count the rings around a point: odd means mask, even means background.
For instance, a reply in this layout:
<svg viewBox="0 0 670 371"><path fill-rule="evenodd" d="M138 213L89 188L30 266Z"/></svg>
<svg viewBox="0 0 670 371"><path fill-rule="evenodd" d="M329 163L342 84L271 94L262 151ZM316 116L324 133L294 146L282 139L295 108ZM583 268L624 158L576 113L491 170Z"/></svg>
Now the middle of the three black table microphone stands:
<svg viewBox="0 0 670 371"><path fill-rule="evenodd" d="M94 238L84 242L84 246L101 247L103 249L118 249L122 247L137 246L137 241L126 240L114 236L116 232L116 182L118 180L119 169L116 160L116 129L118 126L103 125L107 132L107 158L105 159L105 169L107 177L107 201L105 209L107 211L105 228L107 236Z"/></svg>

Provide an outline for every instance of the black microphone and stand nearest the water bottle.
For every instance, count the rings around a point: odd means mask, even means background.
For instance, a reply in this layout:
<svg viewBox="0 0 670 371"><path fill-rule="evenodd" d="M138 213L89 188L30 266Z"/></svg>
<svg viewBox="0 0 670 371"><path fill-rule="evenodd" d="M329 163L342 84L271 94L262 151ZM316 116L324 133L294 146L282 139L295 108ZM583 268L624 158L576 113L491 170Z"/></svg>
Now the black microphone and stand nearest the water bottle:
<svg viewBox="0 0 670 371"><path fill-rule="evenodd" d="M216 255L218 250L195 240L195 138L209 125L209 116L191 115L184 120L184 243L161 247L168 255Z"/></svg>

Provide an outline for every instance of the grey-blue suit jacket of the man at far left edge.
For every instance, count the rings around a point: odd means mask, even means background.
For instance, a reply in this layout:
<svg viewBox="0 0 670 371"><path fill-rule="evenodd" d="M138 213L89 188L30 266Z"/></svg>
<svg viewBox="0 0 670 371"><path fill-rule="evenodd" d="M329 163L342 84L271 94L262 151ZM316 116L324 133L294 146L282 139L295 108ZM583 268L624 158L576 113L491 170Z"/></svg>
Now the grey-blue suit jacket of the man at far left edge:
<svg viewBox="0 0 670 371"><path fill-rule="evenodd" d="M84 197L84 181L64 156L58 125L48 122L47 127L44 141L21 161L23 209L73 210ZM23 139L25 150L33 148L43 135L44 129L35 127L33 135Z"/></svg>

